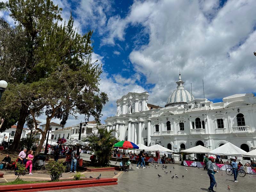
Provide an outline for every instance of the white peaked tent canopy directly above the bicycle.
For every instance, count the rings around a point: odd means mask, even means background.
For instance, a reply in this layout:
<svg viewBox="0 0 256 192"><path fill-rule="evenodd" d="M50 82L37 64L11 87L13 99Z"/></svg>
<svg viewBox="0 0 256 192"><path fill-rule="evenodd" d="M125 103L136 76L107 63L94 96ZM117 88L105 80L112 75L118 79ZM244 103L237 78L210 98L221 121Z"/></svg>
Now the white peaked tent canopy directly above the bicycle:
<svg viewBox="0 0 256 192"><path fill-rule="evenodd" d="M208 154L212 155L225 155L225 156L242 156L246 151L236 147L232 143L228 142L212 151L208 152Z"/></svg>

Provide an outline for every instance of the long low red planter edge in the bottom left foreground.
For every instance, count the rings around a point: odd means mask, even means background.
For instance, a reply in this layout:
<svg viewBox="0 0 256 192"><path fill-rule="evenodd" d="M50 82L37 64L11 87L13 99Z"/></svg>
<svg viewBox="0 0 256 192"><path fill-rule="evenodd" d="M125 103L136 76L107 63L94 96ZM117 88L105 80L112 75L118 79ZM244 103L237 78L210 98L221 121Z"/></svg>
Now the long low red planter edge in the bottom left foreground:
<svg viewBox="0 0 256 192"><path fill-rule="evenodd" d="M50 184L50 185L49 185ZM84 187L96 187L117 185L116 178L110 179L91 179L91 180L77 180L77 181L60 181L60 182L46 182L46 183L32 183L21 185L6 185L0 187L0 192L35 192L35 191L48 191L48 190L60 190L69 188L84 188Z"/></svg>

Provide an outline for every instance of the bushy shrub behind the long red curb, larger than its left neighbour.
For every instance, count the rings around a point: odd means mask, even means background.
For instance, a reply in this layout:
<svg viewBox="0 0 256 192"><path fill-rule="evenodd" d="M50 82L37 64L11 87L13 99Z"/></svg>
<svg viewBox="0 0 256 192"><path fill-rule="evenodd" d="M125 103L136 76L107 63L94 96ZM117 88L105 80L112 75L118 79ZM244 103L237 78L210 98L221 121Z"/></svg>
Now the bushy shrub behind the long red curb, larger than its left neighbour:
<svg viewBox="0 0 256 192"><path fill-rule="evenodd" d="M54 160L49 160L46 168L48 169L52 181L58 181L61 174L66 170L66 166L63 165L62 161Z"/></svg>

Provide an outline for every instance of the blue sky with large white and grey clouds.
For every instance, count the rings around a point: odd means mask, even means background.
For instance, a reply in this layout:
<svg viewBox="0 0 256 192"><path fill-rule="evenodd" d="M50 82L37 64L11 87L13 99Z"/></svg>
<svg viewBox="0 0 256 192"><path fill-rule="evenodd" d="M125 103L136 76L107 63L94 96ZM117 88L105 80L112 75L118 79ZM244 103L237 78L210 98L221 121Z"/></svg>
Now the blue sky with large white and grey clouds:
<svg viewBox="0 0 256 192"><path fill-rule="evenodd" d="M79 33L93 30L93 59L103 64L109 102L101 121L128 92L149 92L164 107L179 76L195 98L256 92L254 0L54 0ZM1 13L4 14L4 13ZM70 118L66 126L81 122ZM44 117L39 119L45 122ZM54 120L58 123L58 120Z"/></svg>

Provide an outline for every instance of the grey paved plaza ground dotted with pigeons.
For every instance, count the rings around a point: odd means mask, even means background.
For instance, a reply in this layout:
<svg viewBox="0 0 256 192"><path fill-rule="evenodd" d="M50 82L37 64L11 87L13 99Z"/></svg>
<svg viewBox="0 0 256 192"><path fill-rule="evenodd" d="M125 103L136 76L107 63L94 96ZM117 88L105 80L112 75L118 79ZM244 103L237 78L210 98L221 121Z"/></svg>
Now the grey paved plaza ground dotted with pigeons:
<svg viewBox="0 0 256 192"><path fill-rule="evenodd" d="M118 175L118 185L115 186L102 186L102 187L90 187L90 188L74 188L74 189L63 189L59 191L46 191L46 192L131 192L131 191L175 191L175 192L184 192L184 191L208 191L210 180L207 172L204 169L196 167L185 167L175 164L167 164L167 169L162 170L161 168L154 169L150 167L147 169L133 169L129 172L119 173ZM188 171L186 171L186 168ZM167 171L168 174L165 174L164 171ZM170 171L172 173L170 174ZM233 182L233 175L229 176L226 172L223 171L215 174L215 179L218 183L217 187L214 188L215 191L223 192L229 191L227 186L231 187L230 191L254 191L255 190L255 181L256 176L246 175L241 178L238 176L238 183ZM157 173L162 175L158 178ZM172 175L177 174L179 179L171 179ZM90 173L89 173L90 174ZM114 174L114 172L112 173ZM182 179L182 175L184 178Z"/></svg>

